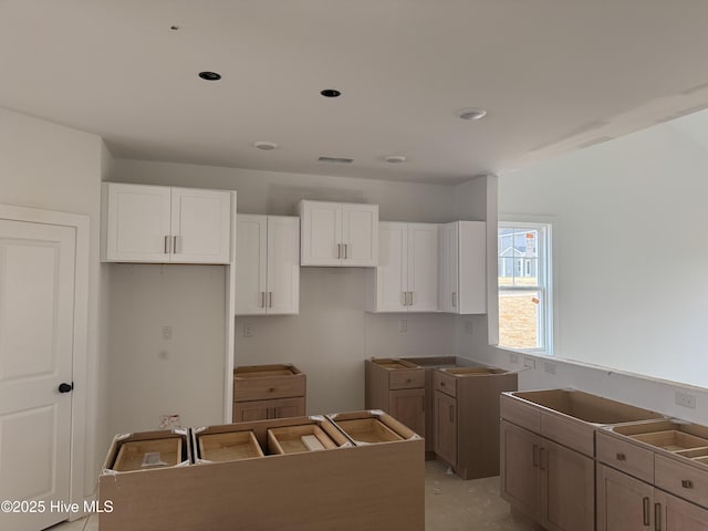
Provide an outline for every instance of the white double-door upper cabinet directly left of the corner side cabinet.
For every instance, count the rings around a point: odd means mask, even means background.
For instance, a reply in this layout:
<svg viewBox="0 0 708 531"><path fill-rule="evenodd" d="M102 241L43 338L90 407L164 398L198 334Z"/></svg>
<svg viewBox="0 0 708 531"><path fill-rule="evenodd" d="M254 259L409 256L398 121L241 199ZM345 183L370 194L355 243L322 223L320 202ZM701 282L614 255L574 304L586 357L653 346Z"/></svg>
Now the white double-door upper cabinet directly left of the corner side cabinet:
<svg viewBox="0 0 708 531"><path fill-rule="evenodd" d="M438 226L379 223L378 267L368 275L369 312L438 311Z"/></svg>

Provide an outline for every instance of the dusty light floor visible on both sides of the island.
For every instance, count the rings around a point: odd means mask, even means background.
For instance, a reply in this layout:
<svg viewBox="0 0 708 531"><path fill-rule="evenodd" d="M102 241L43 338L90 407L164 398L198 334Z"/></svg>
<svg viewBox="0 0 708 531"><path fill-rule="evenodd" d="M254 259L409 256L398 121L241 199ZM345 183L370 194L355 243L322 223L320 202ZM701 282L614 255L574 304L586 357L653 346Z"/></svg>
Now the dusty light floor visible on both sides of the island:
<svg viewBox="0 0 708 531"><path fill-rule="evenodd" d="M532 531L534 528L514 520L509 504L499 497L499 478L464 481L447 473L439 461L425 464L426 531ZM51 531L97 531L98 518L93 516L65 522ZM48 531L50 531L48 530Z"/></svg>

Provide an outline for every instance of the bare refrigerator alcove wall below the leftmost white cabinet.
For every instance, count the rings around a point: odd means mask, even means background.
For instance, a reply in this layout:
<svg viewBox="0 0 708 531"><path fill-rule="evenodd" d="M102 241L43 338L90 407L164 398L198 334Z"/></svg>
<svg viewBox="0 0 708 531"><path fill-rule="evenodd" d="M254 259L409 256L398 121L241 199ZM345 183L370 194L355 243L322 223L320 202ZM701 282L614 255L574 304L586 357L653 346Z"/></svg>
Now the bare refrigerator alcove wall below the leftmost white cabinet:
<svg viewBox="0 0 708 531"><path fill-rule="evenodd" d="M221 424L226 268L108 267L112 431Z"/></svg>

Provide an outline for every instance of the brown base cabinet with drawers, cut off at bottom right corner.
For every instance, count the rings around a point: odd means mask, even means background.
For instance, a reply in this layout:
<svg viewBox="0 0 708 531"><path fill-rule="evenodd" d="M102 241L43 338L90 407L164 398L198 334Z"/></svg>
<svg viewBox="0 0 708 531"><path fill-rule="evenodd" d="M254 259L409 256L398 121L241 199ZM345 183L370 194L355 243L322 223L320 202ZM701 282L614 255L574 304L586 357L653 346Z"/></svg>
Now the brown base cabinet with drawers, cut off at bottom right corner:
<svg viewBox="0 0 708 531"><path fill-rule="evenodd" d="M708 530L707 427L671 419L607 427L596 458L597 531Z"/></svg>

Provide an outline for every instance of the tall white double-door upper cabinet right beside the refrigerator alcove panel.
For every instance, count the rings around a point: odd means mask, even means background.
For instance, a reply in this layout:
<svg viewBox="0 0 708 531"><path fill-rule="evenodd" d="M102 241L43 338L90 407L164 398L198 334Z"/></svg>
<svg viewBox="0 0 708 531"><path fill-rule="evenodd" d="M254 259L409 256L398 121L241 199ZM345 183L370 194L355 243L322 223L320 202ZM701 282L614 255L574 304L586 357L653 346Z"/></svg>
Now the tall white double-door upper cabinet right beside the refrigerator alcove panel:
<svg viewBox="0 0 708 531"><path fill-rule="evenodd" d="M236 314L300 311L300 218L237 216Z"/></svg>

